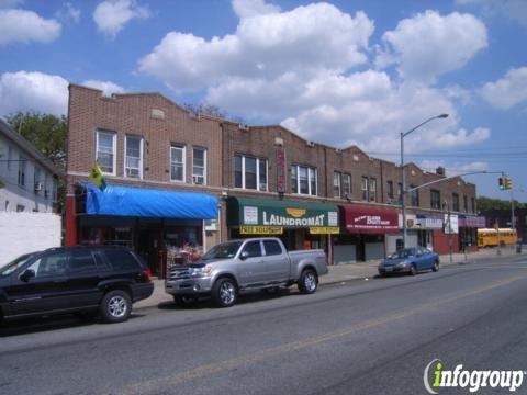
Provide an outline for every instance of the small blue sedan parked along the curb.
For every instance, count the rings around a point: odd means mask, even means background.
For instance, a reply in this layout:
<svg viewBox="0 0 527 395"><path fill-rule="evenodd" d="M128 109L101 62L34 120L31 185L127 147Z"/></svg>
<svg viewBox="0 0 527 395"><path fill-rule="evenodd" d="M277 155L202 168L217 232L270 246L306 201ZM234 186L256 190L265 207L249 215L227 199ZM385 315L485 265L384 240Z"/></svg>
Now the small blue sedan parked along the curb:
<svg viewBox="0 0 527 395"><path fill-rule="evenodd" d="M379 274L410 273L415 275L418 271L439 270L439 256L427 248L412 247L400 249L379 264Z"/></svg>

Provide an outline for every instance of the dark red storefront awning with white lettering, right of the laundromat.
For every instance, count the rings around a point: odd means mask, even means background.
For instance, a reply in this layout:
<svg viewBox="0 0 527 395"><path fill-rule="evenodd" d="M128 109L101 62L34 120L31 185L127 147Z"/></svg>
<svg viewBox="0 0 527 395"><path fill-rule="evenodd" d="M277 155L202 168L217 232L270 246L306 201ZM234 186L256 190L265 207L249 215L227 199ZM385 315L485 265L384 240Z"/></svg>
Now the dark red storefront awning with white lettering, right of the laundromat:
<svg viewBox="0 0 527 395"><path fill-rule="evenodd" d="M346 230L350 234L386 234L399 232L399 214L394 210L341 205Z"/></svg>

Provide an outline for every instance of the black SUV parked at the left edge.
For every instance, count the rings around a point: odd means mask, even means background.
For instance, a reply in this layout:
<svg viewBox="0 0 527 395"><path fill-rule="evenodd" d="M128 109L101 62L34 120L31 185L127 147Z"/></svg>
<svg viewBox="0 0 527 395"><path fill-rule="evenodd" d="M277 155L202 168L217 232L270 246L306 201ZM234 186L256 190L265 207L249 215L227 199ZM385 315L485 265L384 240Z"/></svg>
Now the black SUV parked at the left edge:
<svg viewBox="0 0 527 395"><path fill-rule="evenodd" d="M99 311L120 323L153 292L150 270L127 248L51 248L0 268L0 318Z"/></svg>

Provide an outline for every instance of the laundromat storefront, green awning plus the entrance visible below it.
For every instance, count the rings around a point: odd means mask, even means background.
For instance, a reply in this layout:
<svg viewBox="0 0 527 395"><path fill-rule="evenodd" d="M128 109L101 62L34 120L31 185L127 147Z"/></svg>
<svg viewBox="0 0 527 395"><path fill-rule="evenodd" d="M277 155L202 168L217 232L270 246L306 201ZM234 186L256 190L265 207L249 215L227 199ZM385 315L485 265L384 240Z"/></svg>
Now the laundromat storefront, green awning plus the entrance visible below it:
<svg viewBox="0 0 527 395"><path fill-rule="evenodd" d="M276 236L289 249L327 247L327 235L338 234L338 207L288 200L229 198L229 237Z"/></svg>

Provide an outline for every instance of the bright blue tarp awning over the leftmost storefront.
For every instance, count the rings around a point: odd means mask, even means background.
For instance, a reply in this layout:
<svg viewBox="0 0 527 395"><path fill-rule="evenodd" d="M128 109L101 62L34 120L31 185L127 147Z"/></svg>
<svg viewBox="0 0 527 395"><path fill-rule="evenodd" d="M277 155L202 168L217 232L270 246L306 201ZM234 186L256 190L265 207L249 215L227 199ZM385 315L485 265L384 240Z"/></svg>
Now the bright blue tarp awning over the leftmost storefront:
<svg viewBox="0 0 527 395"><path fill-rule="evenodd" d="M217 199L206 193L108 185L86 188L88 215L119 215L179 219L217 218Z"/></svg>

